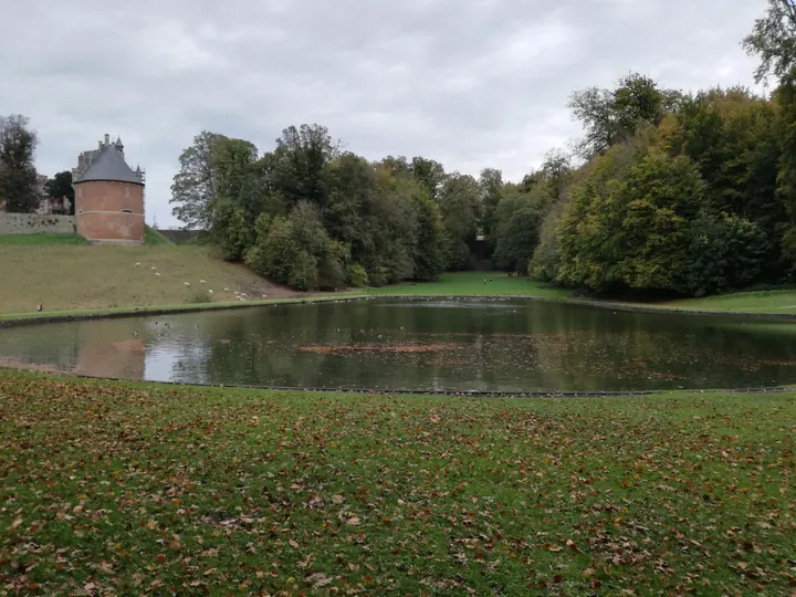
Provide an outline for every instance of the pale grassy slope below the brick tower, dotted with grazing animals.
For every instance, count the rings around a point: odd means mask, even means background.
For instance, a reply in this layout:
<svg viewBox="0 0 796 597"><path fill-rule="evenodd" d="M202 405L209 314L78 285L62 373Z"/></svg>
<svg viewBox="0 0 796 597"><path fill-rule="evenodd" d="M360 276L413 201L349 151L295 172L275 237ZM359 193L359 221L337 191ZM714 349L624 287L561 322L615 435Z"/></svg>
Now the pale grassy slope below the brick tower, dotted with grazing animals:
<svg viewBox="0 0 796 597"><path fill-rule="evenodd" d="M293 294L245 265L214 258L208 247L25 244L20 238L0 242L0 313L30 313L39 303L53 312L234 301L234 291L251 297Z"/></svg>

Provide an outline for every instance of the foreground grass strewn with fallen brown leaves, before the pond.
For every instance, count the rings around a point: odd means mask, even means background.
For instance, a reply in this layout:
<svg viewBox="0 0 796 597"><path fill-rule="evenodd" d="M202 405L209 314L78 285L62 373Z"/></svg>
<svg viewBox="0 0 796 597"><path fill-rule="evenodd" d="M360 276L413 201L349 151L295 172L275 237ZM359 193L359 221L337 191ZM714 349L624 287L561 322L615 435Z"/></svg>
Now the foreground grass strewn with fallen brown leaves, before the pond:
<svg viewBox="0 0 796 597"><path fill-rule="evenodd" d="M766 594L796 396L476 400L0 371L0 578L41 594Z"/></svg>

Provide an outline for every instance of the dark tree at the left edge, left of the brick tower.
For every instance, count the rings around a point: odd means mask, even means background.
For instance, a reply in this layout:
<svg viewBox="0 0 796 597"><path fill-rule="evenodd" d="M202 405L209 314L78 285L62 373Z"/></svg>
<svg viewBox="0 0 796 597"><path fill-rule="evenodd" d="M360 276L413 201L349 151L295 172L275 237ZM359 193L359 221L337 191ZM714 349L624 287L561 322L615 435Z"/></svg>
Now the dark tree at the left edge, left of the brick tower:
<svg viewBox="0 0 796 597"><path fill-rule="evenodd" d="M33 155L38 138L20 114L0 116L0 199L6 211L29 213L39 205Z"/></svg>

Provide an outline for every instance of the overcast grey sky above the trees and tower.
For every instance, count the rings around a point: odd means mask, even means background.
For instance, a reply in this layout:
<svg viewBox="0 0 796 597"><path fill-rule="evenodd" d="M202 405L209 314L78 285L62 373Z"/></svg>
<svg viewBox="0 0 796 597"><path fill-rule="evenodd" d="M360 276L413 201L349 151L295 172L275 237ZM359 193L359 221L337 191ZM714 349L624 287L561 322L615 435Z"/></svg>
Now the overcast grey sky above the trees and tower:
<svg viewBox="0 0 796 597"><path fill-rule="evenodd" d="M202 129L271 150L318 123L369 159L510 179L579 135L569 94L638 71L752 86L765 0L0 0L0 114L30 117L41 174L104 133L147 171L147 221Z"/></svg>

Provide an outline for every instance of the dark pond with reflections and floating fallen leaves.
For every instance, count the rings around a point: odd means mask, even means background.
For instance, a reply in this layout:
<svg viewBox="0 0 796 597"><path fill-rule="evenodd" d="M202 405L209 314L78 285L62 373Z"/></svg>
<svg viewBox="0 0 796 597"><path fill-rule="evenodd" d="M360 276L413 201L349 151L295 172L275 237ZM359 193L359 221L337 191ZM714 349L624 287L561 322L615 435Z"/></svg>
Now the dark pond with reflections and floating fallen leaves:
<svg viewBox="0 0 796 597"><path fill-rule="evenodd" d="M796 383L796 324L502 298L379 298L42 324L0 357L136 380L626 391Z"/></svg>

